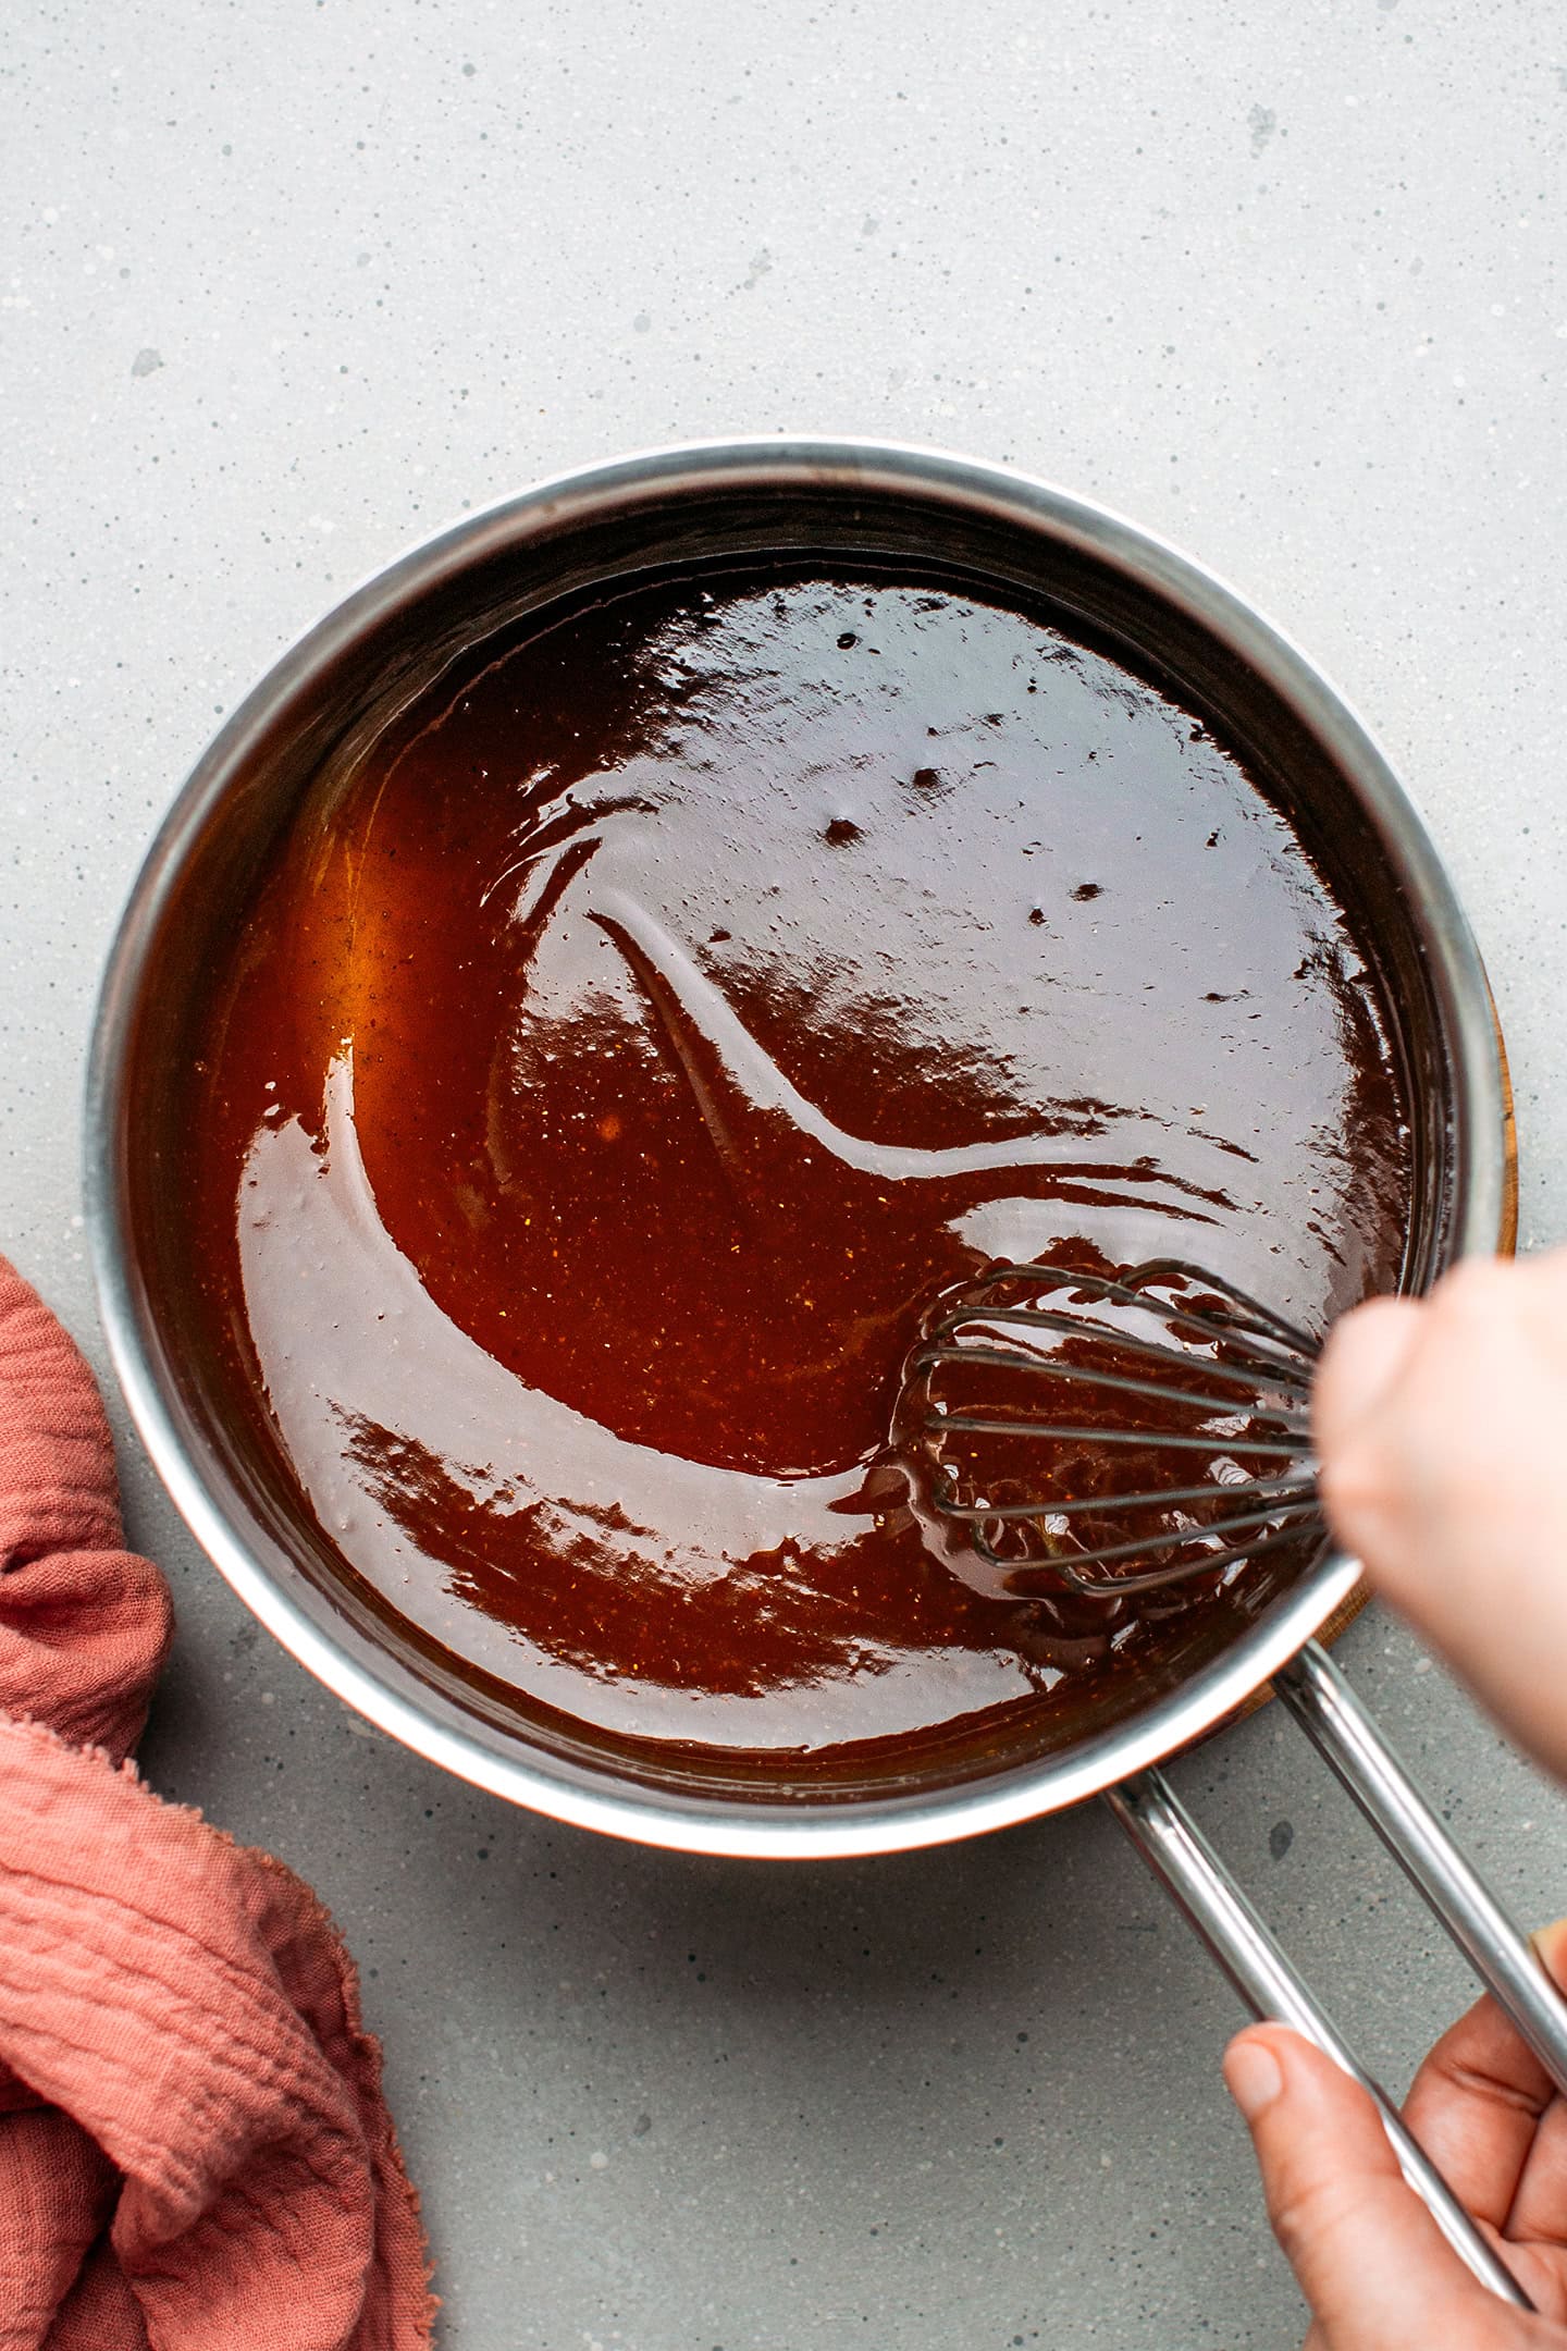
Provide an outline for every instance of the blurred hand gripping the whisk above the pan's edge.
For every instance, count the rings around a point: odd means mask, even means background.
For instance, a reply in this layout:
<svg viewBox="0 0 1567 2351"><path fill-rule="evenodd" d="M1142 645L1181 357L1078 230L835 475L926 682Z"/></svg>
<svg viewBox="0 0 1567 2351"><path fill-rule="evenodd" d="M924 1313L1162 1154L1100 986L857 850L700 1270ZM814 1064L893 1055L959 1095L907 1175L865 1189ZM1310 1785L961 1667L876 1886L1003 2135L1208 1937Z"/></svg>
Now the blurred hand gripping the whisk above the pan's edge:
<svg viewBox="0 0 1567 2351"><path fill-rule="evenodd" d="M1316 1446L1339 1542L1567 1775L1567 1251L1468 1260L1428 1298L1346 1314Z"/></svg>

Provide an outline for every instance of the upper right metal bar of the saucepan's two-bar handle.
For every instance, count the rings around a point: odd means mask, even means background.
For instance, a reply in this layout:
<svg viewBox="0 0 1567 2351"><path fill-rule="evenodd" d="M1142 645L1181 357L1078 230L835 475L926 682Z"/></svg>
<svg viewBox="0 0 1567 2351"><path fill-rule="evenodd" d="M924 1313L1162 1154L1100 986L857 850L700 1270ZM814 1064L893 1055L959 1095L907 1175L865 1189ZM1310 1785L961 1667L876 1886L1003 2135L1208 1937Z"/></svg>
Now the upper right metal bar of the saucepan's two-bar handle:
<svg viewBox="0 0 1567 2351"><path fill-rule="evenodd" d="M1567 2097L1567 2003L1327 1650L1309 1641L1273 1688Z"/></svg>

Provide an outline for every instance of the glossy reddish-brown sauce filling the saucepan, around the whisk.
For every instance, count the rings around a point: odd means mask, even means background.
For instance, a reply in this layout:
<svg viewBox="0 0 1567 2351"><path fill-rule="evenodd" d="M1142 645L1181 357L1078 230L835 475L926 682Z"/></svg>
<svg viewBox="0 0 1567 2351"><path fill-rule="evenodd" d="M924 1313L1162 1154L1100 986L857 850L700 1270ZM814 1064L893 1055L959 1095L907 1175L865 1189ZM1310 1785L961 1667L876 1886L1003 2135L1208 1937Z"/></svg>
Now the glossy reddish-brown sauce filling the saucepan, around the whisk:
<svg viewBox="0 0 1567 2351"><path fill-rule="evenodd" d="M973 585L698 574L468 656L214 976L193 1251L336 1552L468 1669L756 1768L1050 1709L1170 1608L954 1573L926 1302L1398 1279L1377 980L1154 684Z"/></svg>

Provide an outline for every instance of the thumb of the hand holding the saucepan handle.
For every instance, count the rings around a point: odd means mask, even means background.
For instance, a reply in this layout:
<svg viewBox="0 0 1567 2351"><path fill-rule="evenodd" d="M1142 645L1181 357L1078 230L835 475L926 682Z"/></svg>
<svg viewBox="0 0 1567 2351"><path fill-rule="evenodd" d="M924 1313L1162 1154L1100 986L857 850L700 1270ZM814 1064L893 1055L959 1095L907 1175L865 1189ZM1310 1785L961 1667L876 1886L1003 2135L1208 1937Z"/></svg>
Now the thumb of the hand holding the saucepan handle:
<svg viewBox="0 0 1567 2351"><path fill-rule="evenodd" d="M1471 2278L1405 2186L1377 2106L1283 2024L1238 2034L1224 2083L1252 2132L1269 2222L1316 2318L1323 2351L1431 2351L1489 2342L1501 2304Z"/></svg>

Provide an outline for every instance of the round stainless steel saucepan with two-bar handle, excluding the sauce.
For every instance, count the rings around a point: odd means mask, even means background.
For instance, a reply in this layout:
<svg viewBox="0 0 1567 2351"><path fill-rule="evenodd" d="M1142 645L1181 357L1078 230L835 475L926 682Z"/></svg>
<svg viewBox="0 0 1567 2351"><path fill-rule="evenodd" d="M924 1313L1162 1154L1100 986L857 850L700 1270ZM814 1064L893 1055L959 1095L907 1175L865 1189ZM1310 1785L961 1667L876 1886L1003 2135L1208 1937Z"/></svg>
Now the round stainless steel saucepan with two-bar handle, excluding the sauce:
<svg viewBox="0 0 1567 2351"><path fill-rule="evenodd" d="M587 1829L764 1860L895 1853L1104 1796L1255 2015L1297 2024L1360 2074L1158 1773L1165 1756L1273 1683L1567 2092L1567 2017L1529 1944L1316 1643L1356 1594L1353 1561L1325 1559L1294 1582L1278 1570L1278 1589L1264 1582L1252 1615L1212 1622L1055 1744L1013 1733L1013 1744L959 1780L912 1761L895 1782L846 1777L787 1794L691 1756L667 1766L627 1756L590 1730L529 1719L453 1672L341 1570L287 1465L261 1458L254 1432L226 1408L164 1150L190 1013L247 877L308 781L456 651L566 590L775 550L919 557L1017 583L1210 712L1290 811L1388 976L1414 1103L1405 1286L1426 1288L1457 1258L1511 1246L1506 1077L1473 938L1384 757L1278 630L1163 541L1015 473L872 442L665 449L545 482L378 574L256 686L162 825L110 955L87 1093L103 1321L155 1467L284 1648L458 1777ZM1452 2243L1520 2302L1381 2104L1405 2170Z"/></svg>

